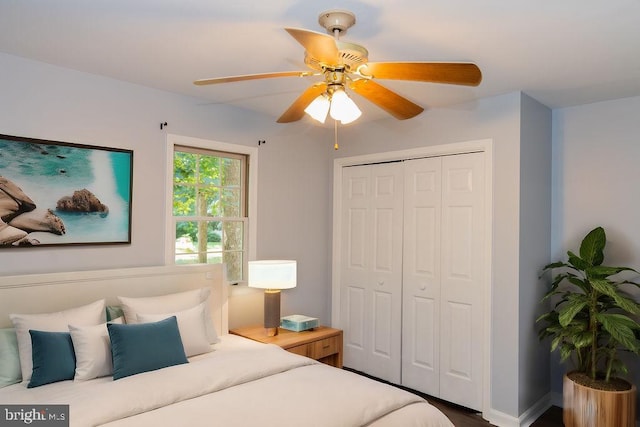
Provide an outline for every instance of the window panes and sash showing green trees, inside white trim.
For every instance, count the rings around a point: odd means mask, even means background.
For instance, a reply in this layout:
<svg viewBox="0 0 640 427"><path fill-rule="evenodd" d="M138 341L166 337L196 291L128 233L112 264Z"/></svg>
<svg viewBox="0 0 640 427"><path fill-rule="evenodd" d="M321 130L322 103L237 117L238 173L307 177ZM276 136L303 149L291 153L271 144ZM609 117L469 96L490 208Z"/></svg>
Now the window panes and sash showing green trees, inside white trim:
<svg viewBox="0 0 640 427"><path fill-rule="evenodd" d="M171 144L171 257L176 264L225 263L228 281L244 282L251 240L251 156L246 150L185 144L193 142L190 139L182 137L180 143Z"/></svg>

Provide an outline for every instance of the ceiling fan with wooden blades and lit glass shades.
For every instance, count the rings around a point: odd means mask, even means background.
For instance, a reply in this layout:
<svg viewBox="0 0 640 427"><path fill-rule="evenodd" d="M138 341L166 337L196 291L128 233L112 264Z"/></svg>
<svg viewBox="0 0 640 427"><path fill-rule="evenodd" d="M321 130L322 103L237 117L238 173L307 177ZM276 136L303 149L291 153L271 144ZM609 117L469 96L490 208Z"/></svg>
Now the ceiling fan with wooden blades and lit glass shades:
<svg viewBox="0 0 640 427"><path fill-rule="evenodd" d="M329 34L300 28L285 30L305 48L305 64L313 71L282 71L196 80L196 85L239 82L274 77L322 75L278 118L278 123L300 120L305 112L323 122L327 113L342 124L360 116L360 110L346 89L366 98L399 120L417 116L424 108L387 89L374 80L410 80L477 86L482 80L473 63L459 62L369 62L369 52L361 45L339 40L355 24L355 15L346 10L328 10L318 22Z"/></svg>

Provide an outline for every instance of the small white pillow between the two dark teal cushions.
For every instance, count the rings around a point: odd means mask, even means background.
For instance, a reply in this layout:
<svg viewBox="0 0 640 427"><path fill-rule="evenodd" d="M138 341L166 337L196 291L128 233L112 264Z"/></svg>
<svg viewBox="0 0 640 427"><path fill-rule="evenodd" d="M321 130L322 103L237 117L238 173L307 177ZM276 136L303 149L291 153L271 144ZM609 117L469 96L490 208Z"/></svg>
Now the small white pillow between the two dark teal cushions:
<svg viewBox="0 0 640 427"><path fill-rule="evenodd" d="M123 323L118 317L109 323ZM91 380L113 374L111 341L107 324L93 326L69 325L69 333L76 354L75 381Z"/></svg>

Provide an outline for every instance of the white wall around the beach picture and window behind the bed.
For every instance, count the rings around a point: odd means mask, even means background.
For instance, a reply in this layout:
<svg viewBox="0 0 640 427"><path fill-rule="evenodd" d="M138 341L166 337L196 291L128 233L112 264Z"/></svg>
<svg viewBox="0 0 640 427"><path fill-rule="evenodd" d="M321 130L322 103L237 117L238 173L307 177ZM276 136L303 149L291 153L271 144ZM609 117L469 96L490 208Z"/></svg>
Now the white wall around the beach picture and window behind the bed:
<svg viewBox="0 0 640 427"><path fill-rule="evenodd" d="M232 144L266 140L258 155L257 256L299 259L299 287L287 291L283 311L329 321L333 154L314 142L313 129L6 54L0 70L1 134L134 150L131 245L2 249L0 276L162 265L165 132ZM261 298L232 293L230 326L261 322Z"/></svg>

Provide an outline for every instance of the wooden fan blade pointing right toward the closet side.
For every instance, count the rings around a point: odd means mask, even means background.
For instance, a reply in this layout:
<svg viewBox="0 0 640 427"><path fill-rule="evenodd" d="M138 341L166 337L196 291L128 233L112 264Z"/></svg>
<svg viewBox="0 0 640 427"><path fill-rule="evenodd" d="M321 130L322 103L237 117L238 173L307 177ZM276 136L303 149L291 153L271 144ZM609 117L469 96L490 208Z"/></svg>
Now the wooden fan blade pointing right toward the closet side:
<svg viewBox="0 0 640 427"><path fill-rule="evenodd" d="M482 73L477 65L457 62L369 62L358 68L376 79L415 80L478 86Z"/></svg>

